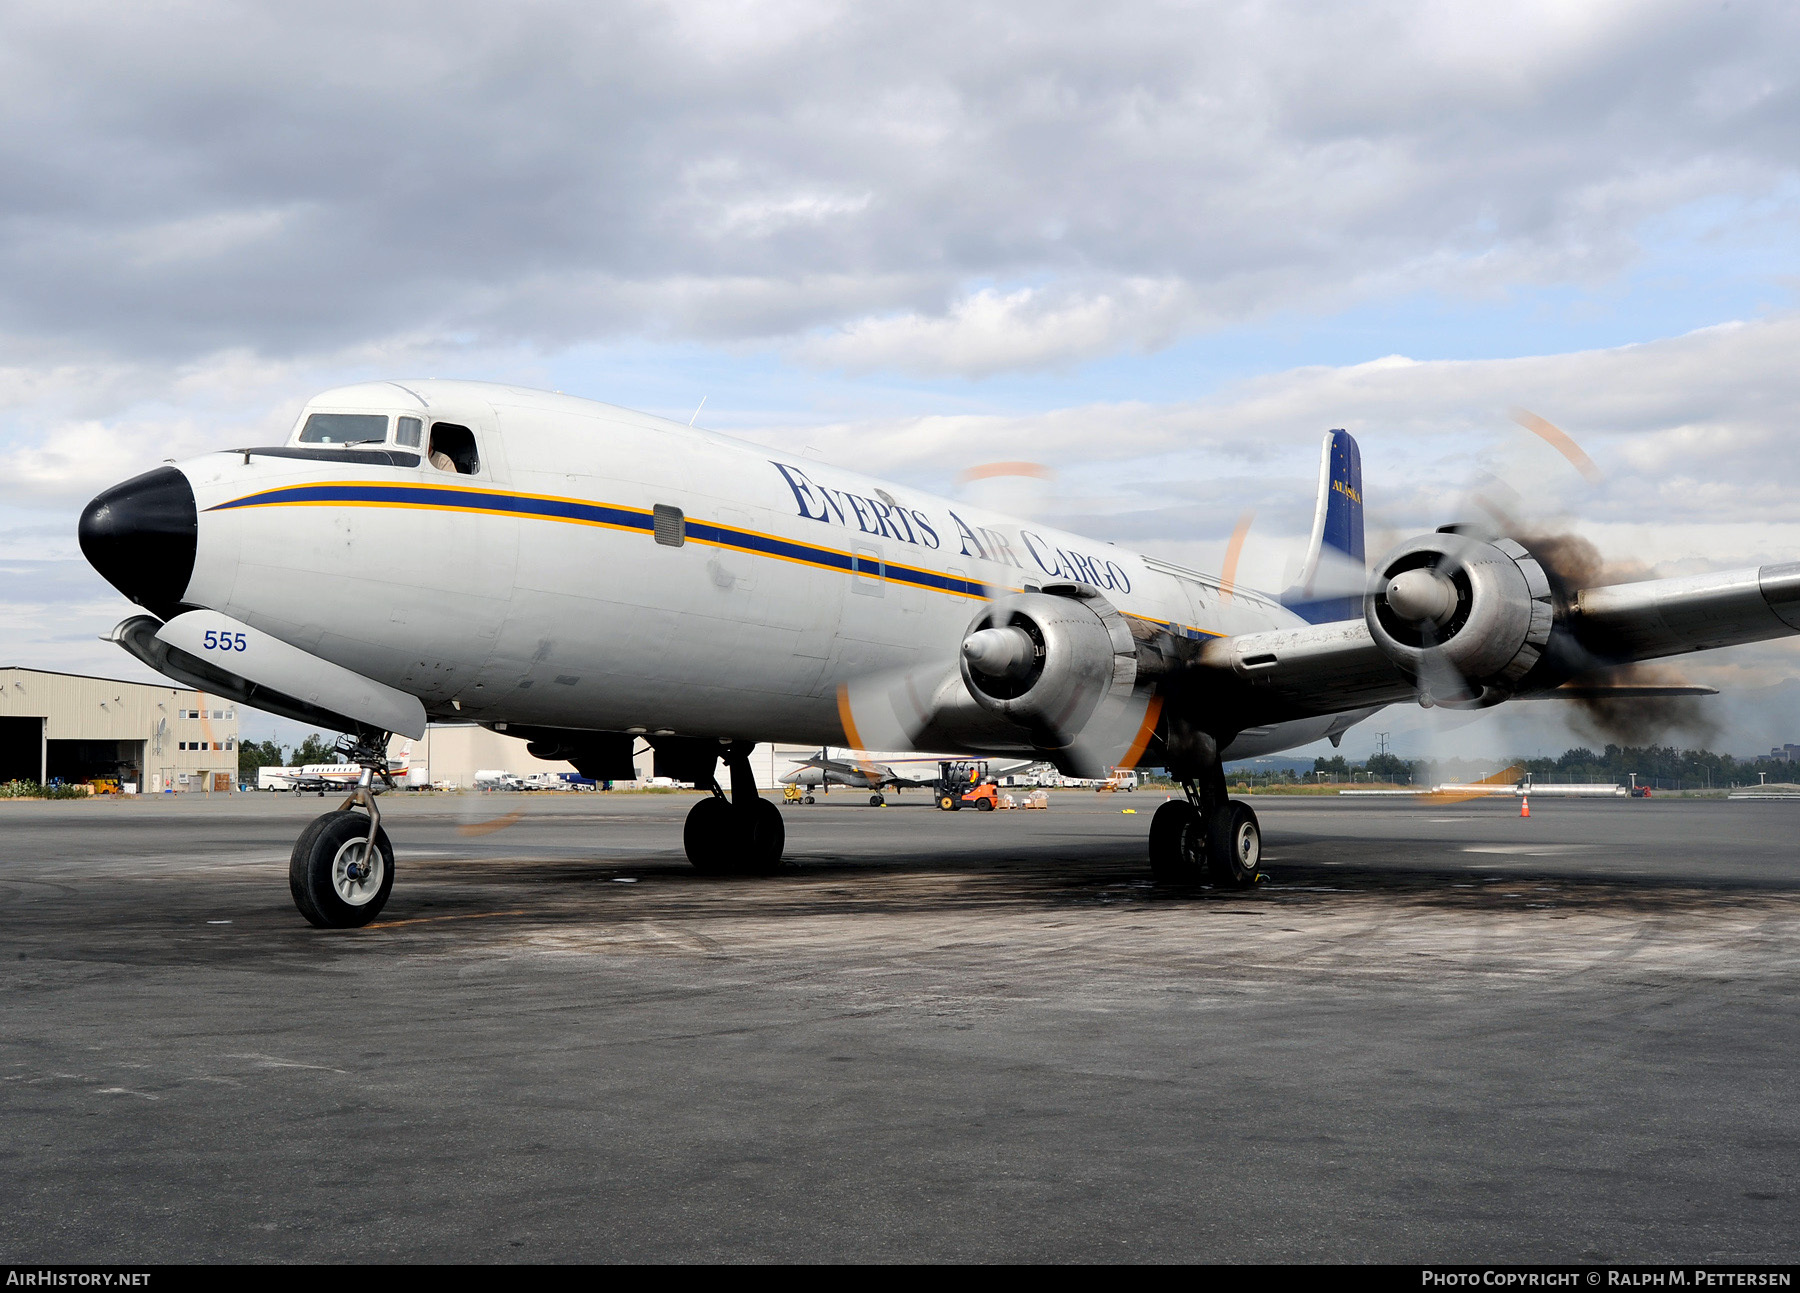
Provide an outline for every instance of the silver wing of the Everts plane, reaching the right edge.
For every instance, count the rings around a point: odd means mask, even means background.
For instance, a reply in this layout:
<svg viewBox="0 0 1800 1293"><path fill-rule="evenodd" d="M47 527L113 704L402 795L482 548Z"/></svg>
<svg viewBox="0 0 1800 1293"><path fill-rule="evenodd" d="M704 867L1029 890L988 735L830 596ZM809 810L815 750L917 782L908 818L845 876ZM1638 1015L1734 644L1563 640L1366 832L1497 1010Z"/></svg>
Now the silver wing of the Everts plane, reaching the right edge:
<svg viewBox="0 0 1800 1293"><path fill-rule="evenodd" d="M1519 565L1530 562L1507 546ZM1480 578L1472 591L1483 591ZM1478 708L1514 695L1694 695L1708 688L1629 679L1615 688L1607 674L1800 632L1800 562L1562 592L1543 580L1525 591L1521 605L1489 605L1487 619L1480 598L1465 598L1465 621L1449 619L1433 639L1395 627L1382 589L1373 625L1364 618L1220 637L1183 670L1184 683L1229 702L1242 726L1415 699Z"/></svg>

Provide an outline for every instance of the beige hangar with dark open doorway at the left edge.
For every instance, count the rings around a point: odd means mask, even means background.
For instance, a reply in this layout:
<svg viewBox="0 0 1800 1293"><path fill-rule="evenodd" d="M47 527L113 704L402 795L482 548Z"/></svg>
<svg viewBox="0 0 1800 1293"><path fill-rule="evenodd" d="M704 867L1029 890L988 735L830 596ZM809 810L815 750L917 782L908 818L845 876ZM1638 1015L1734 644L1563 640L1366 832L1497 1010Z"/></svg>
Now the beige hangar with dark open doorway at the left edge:
<svg viewBox="0 0 1800 1293"><path fill-rule="evenodd" d="M238 706L184 686L0 668L0 782L238 787Z"/></svg>

